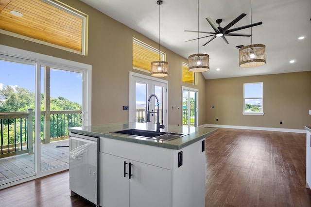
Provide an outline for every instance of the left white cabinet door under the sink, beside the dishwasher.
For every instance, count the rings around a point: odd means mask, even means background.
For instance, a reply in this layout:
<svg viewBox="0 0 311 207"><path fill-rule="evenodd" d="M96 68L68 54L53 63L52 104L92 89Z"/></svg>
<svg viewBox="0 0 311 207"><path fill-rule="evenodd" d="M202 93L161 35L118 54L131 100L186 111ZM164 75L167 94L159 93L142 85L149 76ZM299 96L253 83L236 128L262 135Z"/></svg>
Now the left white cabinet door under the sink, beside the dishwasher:
<svg viewBox="0 0 311 207"><path fill-rule="evenodd" d="M128 207L129 181L124 177L124 161L128 173L129 161L100 152L100 205L102 207Z"/></svg>

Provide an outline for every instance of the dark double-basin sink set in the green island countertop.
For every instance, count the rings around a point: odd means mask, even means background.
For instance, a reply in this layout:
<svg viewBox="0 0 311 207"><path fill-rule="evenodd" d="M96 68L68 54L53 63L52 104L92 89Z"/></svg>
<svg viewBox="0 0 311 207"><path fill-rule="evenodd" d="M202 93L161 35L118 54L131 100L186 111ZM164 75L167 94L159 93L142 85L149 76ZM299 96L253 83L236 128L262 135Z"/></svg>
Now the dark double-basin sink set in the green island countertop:
<svg viewBox="0 0 311 207"><path fill-rule="evenodd" d="M112 133L117 134L126 134L131 136L138 136L148 139L157 139L162 141L170 141L176 139L178 137L183 136L183 134L170 133L170 132L158 132L158 131L149 131L149 130L141 130L141 129L126 129L121 131L114 131Z"/></svg>

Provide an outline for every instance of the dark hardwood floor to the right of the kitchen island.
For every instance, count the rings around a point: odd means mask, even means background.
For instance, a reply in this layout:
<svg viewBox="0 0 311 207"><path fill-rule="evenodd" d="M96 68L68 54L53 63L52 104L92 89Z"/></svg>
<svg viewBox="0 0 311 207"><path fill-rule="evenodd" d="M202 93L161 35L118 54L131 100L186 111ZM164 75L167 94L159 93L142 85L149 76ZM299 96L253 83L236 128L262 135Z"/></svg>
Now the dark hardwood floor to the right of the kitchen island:
<svg viewBox="0 0 311 207"><path fill-rule="evenodd" d="M206 154L206 207L311 207L305 134L219 128Z"/></svg>

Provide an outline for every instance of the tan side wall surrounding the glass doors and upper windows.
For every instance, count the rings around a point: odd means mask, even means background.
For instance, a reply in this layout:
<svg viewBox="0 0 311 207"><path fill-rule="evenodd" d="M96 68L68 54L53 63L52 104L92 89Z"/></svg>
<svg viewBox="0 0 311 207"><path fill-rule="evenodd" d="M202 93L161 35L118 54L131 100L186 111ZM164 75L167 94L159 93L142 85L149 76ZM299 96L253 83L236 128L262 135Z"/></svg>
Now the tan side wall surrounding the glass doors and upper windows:
<svg viewBox="0 0 311 207"><path fill-rule="evenodd" d="M0 34L0 44L25 49L41 54L59 57L71 61L92 65L92 124L128 121L128 111L122 111L128 105L129 71L148 75L132 68L132 38L135 37L152 47L156 42L126 27L125 25L105 16L78 0L62 0L89 15L88 56L70 53L61 49L40 45L34 42ZM169 124L181 125L182 103L182 62L187 59L161 47L169 62ZM200 106L204 111L205 80L198 74ZM187 85L187 84L186 84ZM191 87L190 85L187 85ZM202 91L202 92L201 92ZM173 110L172 110L173 106ZM205 114L205 111L204 113ZM205 116L200 116L199 125L205 124Z"/></svg>

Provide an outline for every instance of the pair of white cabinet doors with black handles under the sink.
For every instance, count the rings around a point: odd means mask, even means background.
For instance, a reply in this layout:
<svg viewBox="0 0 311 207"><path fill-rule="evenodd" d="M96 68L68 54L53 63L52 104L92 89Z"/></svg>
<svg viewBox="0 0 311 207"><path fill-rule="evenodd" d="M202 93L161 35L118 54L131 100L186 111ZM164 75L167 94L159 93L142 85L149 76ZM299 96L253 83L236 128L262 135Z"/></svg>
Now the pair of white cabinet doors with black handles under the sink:
<svg viewBox="0 0 311 207"><path fill-rule="evenodd" d="M101 206L171 206L171 170L102 152L100 160Z"/></svg>

